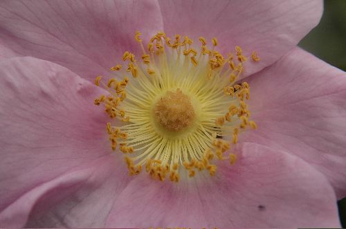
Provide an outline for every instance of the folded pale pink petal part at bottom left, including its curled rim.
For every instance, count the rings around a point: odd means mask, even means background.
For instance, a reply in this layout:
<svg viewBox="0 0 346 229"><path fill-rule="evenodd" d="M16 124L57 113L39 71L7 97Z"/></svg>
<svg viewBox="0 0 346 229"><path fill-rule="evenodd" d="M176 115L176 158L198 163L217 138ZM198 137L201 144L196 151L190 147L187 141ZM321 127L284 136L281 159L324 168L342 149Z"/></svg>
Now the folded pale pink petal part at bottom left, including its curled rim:
<svg viewBox="0 0 346 229"><path fill-rule="evenodd" d="M104 227L113 201L129 179L124 163L116 163L110 155L102 157L26 192L1 212L0 225Z"/></svg>

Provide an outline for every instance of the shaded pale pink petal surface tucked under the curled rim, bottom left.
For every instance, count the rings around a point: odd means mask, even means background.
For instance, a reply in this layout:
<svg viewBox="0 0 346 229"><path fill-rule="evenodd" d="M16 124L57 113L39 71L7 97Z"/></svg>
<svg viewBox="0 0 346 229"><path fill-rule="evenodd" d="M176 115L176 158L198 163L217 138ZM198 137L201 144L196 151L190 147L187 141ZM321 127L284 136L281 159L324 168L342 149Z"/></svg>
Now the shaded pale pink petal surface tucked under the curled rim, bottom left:
<svg viewBox="0 0 346 229"><path fill-rule="evenodd" d="M25 227L104 228L113 202L131 177L119 157L93 161L86 170L90 171L87 179L73 186L53 184L54 188L37 200ZM69 176L79 172L70 172Z"/></svg>

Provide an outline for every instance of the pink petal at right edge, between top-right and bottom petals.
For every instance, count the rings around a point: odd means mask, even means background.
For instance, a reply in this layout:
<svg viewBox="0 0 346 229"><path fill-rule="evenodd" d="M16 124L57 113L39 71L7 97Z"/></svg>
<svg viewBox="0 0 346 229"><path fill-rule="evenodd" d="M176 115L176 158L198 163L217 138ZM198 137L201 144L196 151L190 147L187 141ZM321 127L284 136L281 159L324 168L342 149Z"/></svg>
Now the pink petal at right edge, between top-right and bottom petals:
<svg viewBox="0 0 346 229"><path fill-rule="evenodd" d="M346 195L346 74L298 48L253 75L253 141L301 157Z"/></svg>

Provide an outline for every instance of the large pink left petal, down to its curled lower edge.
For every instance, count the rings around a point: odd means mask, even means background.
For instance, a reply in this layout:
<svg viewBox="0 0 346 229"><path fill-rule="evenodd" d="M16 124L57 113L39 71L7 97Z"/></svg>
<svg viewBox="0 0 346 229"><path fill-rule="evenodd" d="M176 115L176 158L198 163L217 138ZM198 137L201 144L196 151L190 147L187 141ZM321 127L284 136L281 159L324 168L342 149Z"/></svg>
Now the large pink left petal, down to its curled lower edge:
<svg viewBox="0 0 346 229"><path fill-rule="evenodd" d="M120 168L119 158L111 157L108 119L93 105L103 90L32 57L1 61L0 75L0 225L21 227L42 195L66 197L81 183L91 192ZM116 181L128 179L122 171L111 181L111 198Z"/></svg>

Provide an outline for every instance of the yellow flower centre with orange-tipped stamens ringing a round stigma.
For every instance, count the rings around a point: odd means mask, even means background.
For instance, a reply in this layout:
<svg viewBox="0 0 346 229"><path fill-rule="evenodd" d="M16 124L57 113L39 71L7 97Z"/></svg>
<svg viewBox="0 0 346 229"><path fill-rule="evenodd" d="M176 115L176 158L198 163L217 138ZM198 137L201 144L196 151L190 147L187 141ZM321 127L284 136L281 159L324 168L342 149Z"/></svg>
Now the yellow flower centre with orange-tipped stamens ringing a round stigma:
<svg viewBox="0 0 346 229"><path fill-rule="evenodd" d="M177 182L197 171L214 176L215 160L233 165L231 145L239 133L257 128L245 102L250 86L239 82L248 57L236 46L225 58L215 50L215 38L208 48L199 37L197 51L192 39L179 34L170 39L158 32L147 46L140 35L141 61L125 52L123 63L111 67L113 78L95 79L109 93L94 103L114 119L107 123L109 141L125 154L129 174L144 168L154 179ZM260 60L255 52L251 59Z"/></svg>

